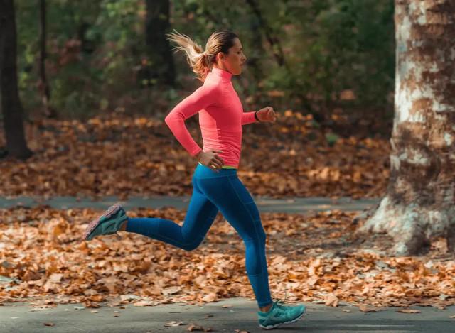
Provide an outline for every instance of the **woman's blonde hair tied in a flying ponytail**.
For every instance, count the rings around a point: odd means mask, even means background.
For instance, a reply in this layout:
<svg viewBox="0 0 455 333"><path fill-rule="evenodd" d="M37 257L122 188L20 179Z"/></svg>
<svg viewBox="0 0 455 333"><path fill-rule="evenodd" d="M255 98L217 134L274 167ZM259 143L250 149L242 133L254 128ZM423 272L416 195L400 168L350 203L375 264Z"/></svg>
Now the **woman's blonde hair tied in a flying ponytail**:
<svg viewBox="0 0 455 333"><path fill-rule="evenodd" d="M168 37L169 40L178 45L174 50L186 53L188 64L201 81L204 81L210 70L212 70L216 55L219 52L228 53L229 49L234 45L235 38L238 38L231 31L217 31L210 35L205 44L205 50L203 50L194 40L178 33L176 30L173 33L168 33Z"/></svg>

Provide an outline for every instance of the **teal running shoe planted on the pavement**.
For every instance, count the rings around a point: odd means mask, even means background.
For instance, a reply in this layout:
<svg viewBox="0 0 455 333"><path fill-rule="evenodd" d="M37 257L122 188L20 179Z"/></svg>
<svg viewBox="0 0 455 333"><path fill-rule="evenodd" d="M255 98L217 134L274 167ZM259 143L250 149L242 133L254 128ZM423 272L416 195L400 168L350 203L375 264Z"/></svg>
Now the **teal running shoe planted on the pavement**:
<svg viewBox="0 0 455 333"><path fill-rule="evenodd" d="M281 301L274 302L269 312L258 311L259 327L263 329L274 329L281 324L296 322L305 313L305 305L286 306Z"/></svg>

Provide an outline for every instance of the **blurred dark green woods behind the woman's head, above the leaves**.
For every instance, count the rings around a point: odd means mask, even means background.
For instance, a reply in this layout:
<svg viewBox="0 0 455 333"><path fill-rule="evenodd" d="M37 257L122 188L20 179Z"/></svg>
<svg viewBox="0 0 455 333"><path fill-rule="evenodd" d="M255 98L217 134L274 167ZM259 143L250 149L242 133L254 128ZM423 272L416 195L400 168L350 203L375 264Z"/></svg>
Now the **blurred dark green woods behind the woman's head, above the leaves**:
<svg viewBox="0 0 455 333"><path fill-rule="evenodd" d="M164 118L200 82L165 34L205 47L210 33L240 36L247 70L235 80L245 109L313 114L330 126L369 121L389 135L395 40L392 0L17 0L18 78L26 119L112 111ZM45 26L43 26L45 23ZM45 43L43 34L45 31ZM350 129L346 129L350 131ZM341 133L343 134L343 133ZM373 135L373 133L371 133Z"/></svg>

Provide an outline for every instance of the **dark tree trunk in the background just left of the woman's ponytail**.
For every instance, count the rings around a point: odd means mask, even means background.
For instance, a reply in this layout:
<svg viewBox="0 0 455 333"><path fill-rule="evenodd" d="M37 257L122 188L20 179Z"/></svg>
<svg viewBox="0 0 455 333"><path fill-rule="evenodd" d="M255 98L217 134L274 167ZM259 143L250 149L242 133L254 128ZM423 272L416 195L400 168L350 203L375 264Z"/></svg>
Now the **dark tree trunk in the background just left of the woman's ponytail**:
<svg viewBox="0 0 455 333"><path fill-rule="evenodd" d="M171 45L166 38L169 30L169 0L146 0L146 45L149 48L151 78L173 84L175 70Z"/></svg>

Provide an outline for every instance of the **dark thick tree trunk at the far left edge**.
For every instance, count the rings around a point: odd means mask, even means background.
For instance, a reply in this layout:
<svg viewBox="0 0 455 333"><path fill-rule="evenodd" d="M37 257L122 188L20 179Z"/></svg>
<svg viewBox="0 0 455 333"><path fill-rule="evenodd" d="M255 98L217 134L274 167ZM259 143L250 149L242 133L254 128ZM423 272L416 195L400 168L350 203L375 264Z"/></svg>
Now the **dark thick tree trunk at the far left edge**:
<svg viewBox="0 0 455 333"><path fill-rule="evenodd" d="M22 104L18 94L16 66L16 18L13 0L0 0L0 91L4 115L6 149L14 158L31 156L27 147L22 120Z"/></svg>

